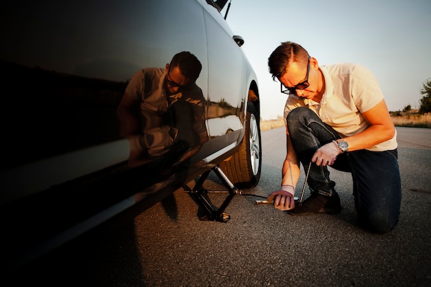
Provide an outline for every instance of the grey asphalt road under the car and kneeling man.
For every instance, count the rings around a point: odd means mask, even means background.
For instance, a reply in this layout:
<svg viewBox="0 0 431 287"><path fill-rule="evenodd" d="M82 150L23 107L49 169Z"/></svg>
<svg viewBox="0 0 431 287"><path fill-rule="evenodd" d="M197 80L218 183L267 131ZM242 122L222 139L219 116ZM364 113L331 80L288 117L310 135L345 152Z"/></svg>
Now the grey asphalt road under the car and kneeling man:
<svg viewBox="0 0 431 287"><path fill-rule="evenodd" d="M262 198L235 195L228 222L201 221L180 189L123 226L22 270L8 286L431 286L431 129L397 131L403 200L390 233L355 225L350 174L333 169L339 215L292 217L253 204ZM280 186L284 128L264 131L262 149L260 184L243 193L266 196ZM204 187L226 190L216 176ZM225 196L210 198L217 205Z"/></svg>

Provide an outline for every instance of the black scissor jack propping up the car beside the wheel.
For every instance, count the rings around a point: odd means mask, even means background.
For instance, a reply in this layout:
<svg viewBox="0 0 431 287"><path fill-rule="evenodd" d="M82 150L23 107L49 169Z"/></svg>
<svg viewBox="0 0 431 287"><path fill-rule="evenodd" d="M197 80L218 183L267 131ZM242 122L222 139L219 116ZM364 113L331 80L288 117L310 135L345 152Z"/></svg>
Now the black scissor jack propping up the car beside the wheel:
<svg viewBox="0 0 431 287"><path fill-rule="evenodd" d="M214 171L214 173L222 180L222 183L225 187L227 187L227 191L210 191L209 189L204 189L202 184L209 176L209 173ZM227 208L229 203L231 202L233 196L236 194L241 194L241 191L237 189L232 182L227 178L227 176L223 173L220 167L215 166L208 171L202 173L195 186L191 190L186 190L186 193L189 193L190 197L202 208L204 216L200 217L202 221L218 221L218 222L227 222L231 216L224 212L224 209ZM224 199L224 202L220 205L220 207L214 206L209 200L209 193L229 193L227 197Z"/></svg>

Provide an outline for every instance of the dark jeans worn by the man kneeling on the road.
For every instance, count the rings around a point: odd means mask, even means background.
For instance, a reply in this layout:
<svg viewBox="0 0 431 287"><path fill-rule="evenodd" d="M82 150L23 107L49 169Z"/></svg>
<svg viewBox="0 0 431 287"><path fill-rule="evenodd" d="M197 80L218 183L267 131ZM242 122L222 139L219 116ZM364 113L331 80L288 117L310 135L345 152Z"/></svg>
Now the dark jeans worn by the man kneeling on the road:
<svg viewBox="0 0 431 287"><path fill-rule="evenodd" d="M305 170L319 147L340 138L337 131L323 123L308 107L293 109L287 116L287 123L293 148ZM352 174L355 208L361 225L379 233L397 225L401 204L397 149L347 151L337 156L331 167ZM313 163L307 183L313 192L336 193L327 167Z"/></svg>

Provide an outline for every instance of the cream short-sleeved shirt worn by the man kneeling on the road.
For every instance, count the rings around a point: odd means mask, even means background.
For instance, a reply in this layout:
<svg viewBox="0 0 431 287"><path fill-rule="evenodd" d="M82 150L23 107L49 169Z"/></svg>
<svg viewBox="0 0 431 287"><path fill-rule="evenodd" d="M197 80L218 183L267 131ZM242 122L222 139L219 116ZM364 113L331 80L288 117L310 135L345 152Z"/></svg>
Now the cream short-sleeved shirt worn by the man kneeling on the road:
<svg viewBox="0 0 431 287"><path fill-rule="evenodd" d="M295 107L312 109L322 121L335 129L341 138L359 134L370 125L362 113L383 100L375 76L365 67L353 63L320 66L325 80L325 92L320 103L289 95L284 107L286 116ZM390 140L381 142L370 151L387 151L397 148L397 133Z"/></svg>

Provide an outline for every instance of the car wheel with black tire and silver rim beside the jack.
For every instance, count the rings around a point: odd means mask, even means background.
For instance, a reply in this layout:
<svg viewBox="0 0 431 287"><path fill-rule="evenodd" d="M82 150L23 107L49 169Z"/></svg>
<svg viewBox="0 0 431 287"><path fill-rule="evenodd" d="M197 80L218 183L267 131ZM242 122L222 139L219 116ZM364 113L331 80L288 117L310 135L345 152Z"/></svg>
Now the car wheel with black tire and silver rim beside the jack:
<svg viewBox="0 0 431 287"><path fill-rule="evenodd" d="M247 103L246 129L240 149L219 167L238 189L255 187L262 169L262 140L259 115L253 103Z"/></svg>

